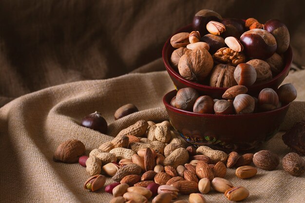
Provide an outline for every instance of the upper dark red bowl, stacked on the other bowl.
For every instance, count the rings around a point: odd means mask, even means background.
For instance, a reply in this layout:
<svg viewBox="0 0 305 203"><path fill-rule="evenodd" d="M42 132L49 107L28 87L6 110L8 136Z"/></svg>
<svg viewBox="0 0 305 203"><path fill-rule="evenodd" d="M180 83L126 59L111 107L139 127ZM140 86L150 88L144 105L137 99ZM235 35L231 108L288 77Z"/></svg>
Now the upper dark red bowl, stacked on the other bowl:
<svg viewBox="0 0 305 203"><path fill-rule="evenodd" d="M176 33L181 33L181 32L191 32L191 24L181 28L178 30ZM173 35L175 35L174 33ZM172 37L172 36L171 36ZM190 80L185 79L182 77L178 72L176 72L170 63L171 55L172 52L175 50L175 48L172 47L171 45L171 37L168 38L168 40L165 42L162 50L162 58L164 65L166 67L166 70L170 77L172 78L172 82L175 85L176 89L181 89L181 88L186 88L186 87L191 87L198 92L200 92L203 95L210 95L213 98L219 98L221 99L222 95L228 88L217 88L217 87L211 87L209 85L202 85L198 84L195 82L191 82ZM292 63L292 49L289 46L288 50L284 53L284 60L285 60L285 68L284 70L273 77L270 81L267 81L266 83L261 83L257 85L252 85L248 87L248 94L252 96L258 96L259 92L263 90L264 88L272 88L274 90L277 90L277 88L280 86L280 84L284 81L285 77L288 75L289 70L290 70L290 65Z"/></svg>

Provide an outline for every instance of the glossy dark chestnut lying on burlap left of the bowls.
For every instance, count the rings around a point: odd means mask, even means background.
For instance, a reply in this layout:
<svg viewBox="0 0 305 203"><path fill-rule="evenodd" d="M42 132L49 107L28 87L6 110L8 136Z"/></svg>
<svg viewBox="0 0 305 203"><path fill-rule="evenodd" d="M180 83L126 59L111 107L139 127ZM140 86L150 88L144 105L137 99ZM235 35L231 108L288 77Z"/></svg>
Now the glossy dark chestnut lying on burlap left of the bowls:
<svg viewBox="0 0 305 203"><path fill-rule="evenodd" d="M85 116L81 121L81 126L97 130L103 134L106 134L108 129L106 120L97 111Z"/></svg>

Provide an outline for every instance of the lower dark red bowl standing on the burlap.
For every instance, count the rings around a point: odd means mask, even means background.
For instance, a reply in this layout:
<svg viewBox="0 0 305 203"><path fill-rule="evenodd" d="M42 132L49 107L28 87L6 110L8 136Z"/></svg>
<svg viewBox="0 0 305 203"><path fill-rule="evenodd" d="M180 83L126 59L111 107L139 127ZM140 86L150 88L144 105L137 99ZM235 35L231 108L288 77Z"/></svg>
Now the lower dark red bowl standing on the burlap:
<svg viewBox="0 0 305 203"><path fill-rule="evenodd" d="M209 146L225 151L257 148L270 139L284 121L289 104L267 112L216 115L200 114L171 106L173 90L163 97L172 126L194 146Z"/></svg>

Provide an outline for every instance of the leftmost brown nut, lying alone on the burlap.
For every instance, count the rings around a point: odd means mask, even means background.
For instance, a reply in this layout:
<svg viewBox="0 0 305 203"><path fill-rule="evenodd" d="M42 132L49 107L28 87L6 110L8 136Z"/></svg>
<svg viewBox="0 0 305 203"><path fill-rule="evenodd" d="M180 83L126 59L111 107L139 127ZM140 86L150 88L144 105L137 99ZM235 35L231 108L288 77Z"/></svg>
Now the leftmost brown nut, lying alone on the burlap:
<svg viewBox="0 0 305 203"><path fill-rule="evenodd" d="M79 140L67 140L61 143L55 153L53 159L64 163L76 163L78 158L85 154L86 148Z"/></svg>

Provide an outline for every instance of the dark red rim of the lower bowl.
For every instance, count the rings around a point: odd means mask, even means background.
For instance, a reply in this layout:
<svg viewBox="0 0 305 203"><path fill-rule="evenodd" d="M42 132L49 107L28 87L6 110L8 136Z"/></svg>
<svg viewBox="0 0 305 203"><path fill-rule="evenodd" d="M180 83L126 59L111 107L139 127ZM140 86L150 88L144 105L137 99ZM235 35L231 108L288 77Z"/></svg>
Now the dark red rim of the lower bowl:
<svg viewBox="0 0 305 203"><path fill-rule="evenodd" d="M180 113L183 115L187 115L187 116L196 116L196 117L212 117L212 118L238 118L238 117L244 117L244 118L250 118L253 116L264 116L267 114L273 114L276 113L278 111L283 111L284 109L288 108L289 104L286 104L284 106L282 106L281 108L275 109L275 110L271 110L271 111L264 111L264 112L258 112L258 113L244 113L244 114L211 114L211 113L195 113L195 112L191 112L191 111L185 111L185 110L181 110L181 109L177 109L175 107L173 107L171 104L168 103L167 98L170 96L170 94L172 94L173 92L177 92L176 90L172 90L168 93L166 93L163 96L163 104L165 106L166 109L170 110L170 111L174 111L176 113ZM170 98L172 99L172 97Z"/></svg>

